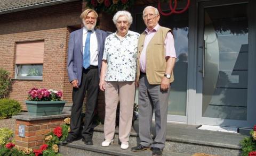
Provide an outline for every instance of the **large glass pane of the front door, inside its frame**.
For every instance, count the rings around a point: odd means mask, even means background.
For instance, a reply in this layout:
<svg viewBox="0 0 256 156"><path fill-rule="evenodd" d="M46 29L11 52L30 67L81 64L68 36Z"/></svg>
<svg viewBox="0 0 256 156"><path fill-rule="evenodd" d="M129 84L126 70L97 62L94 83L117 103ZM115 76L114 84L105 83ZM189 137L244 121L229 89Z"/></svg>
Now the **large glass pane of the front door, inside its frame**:
<svg viewBox="0 0 256 156"><path fill-rule="evenodd" d="M204 15L202 115L246 120L247 4L205 8Z"/></svg>

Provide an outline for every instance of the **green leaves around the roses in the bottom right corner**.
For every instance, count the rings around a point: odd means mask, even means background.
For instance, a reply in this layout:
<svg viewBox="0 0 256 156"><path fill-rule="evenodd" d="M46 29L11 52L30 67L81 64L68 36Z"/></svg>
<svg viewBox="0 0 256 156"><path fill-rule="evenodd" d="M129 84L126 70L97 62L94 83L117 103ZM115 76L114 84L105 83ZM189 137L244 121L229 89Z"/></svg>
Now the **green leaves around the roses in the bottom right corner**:
<svg viewBox="0 0 256 156"><path fill-rule="evenodd" d="M253 131L250 132L252 134ZM244 140L240 141L242 145L242 156L247 156L250 152L256 151L256 141L252 136L245 137Z"/></svg>

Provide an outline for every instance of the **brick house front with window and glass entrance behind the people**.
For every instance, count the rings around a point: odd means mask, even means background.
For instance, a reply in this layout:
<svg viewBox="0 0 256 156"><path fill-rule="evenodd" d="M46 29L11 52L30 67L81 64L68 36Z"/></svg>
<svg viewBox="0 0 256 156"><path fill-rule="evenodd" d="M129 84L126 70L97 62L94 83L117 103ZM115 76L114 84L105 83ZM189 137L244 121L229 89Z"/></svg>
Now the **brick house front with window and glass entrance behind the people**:
<svg viewBox="0 0 256 156"><path fill-rule="evenodd" d="M36 86L63 90L63 98L71 103L68 38L81 28L79 14L86 3L49 3L0 10L0 67L13 79L10 98L21 102ZM168 121L252 127L256 122L256 1L194 0L181 13L187 3L178 1L177 13L161 15L159 21L173 30L177 53ZM135 1L130 9L131 30L145 30L142 11L148 5L158 7L158 1ZM169 13L169 3L161 3L159 10ZM100 13L98 27L115 31L112 16ZM103 103L100 92L100 108Z"/></svg>

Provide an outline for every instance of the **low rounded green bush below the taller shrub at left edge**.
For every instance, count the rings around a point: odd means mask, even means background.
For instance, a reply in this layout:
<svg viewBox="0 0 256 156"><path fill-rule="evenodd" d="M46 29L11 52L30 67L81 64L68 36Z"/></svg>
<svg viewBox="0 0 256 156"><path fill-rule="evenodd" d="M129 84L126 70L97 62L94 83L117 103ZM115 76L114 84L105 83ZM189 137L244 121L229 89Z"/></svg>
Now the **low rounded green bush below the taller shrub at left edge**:
<svg viewBox="0 0 256 156"><path fill-rule="evenodd" d="M18 101L12 99L0 99L0 119L10 118L21 111Z"/></svg>

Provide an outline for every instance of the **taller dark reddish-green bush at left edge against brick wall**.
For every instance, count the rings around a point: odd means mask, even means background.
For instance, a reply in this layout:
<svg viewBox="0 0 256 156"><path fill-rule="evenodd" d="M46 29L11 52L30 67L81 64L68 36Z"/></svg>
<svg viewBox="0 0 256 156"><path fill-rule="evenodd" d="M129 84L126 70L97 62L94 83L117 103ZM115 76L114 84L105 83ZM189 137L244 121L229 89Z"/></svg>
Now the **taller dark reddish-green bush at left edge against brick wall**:
<svg viewBox="0 0 256 156"><path fill-rule="evenodd" d="M9 72L0 68L0 99L7 98L11 89L11 78Z"/></svg>

